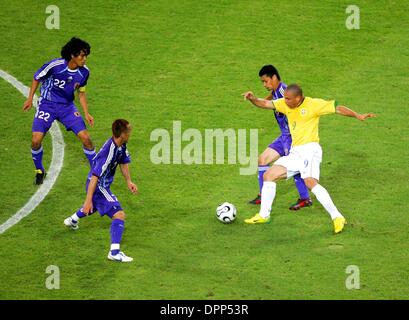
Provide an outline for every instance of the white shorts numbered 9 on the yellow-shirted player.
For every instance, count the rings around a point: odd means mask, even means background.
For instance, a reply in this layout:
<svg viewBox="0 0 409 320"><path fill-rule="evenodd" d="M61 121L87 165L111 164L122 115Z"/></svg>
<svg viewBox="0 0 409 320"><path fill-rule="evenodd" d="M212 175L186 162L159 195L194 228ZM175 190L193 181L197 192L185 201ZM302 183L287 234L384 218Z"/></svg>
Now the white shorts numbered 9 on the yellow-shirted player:
<svg viewBox="0 0 409 320"><path fill-rule="evenodd" d="M279 158L274 164L287 168L287 179L300 173L303 179L319 180L321 161L321 146L317 142L310 142L292 147L288 156Z"/></svg>

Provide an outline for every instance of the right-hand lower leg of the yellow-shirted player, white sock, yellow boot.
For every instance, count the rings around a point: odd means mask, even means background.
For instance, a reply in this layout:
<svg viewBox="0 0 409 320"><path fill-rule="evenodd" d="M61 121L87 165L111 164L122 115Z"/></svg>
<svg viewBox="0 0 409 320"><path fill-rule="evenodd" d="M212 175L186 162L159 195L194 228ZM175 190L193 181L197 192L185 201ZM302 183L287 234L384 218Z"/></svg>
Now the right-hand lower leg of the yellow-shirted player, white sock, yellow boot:
<svg viewBox="0 0 409 320"><path fill-rule="evenodd" d="M309 177L309 178L305 178L304 181L307 187L312 191L312 193L315 194L315 196L317 197L317 200L322 204L324 209L331 216L331 219L334 223L334 232L335 233L341 232L344 229L346 220L342 216L342 214L338 211L328 191L322 185L318 183L317 179Z"/></svg>

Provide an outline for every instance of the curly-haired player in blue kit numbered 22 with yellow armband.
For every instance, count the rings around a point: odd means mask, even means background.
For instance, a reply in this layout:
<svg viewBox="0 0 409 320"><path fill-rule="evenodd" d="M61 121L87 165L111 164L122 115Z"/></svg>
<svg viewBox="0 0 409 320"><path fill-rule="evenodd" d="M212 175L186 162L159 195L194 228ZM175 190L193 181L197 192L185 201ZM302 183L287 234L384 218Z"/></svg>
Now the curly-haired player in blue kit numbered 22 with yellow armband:
<svg viewBox="0 0 409 320"><path fill-rule="evenodd" d="M74 37L62 48L62 58L47 62L34 74L23 110L27 111L32 107L34 94L41 83L31 140L31 155L36 168L35 184L42 184L46 175L43 166L42 141L54 120L60 121L67 131L73 131L78 136L90 164L95 156L95 148L84 120L74 105L74 93L78 91L85 119L93 127L94 118L88 112L85 95L89 77L85 62L90 52L91 48L87 42Z"/></svg>

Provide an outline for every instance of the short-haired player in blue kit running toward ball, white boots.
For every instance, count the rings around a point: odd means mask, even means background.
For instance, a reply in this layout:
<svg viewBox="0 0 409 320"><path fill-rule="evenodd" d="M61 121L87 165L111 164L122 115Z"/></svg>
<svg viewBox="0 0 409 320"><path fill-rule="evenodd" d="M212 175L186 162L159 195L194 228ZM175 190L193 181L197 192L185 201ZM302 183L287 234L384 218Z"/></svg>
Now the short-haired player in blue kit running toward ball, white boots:
<svg viewBox="0 0 409 320"><path fill-rule="evenodd" d="M128 164L131 162L126 143L131 134L131 126L124 119L115 120L112 124L113 136L99 150L92 162L91 171L86 183L87 196L84 205L64 224L72 229L78 229L78 220L98 211L101 216L107 215L111 223L111 249L108 259L120 262L131 262L133 259L120 251L122 233L124 231L125 213L118 199L110 190L114 180L115 170L119 164L125 177L128 189L137 193L138 187L131 180Z"/></svg>

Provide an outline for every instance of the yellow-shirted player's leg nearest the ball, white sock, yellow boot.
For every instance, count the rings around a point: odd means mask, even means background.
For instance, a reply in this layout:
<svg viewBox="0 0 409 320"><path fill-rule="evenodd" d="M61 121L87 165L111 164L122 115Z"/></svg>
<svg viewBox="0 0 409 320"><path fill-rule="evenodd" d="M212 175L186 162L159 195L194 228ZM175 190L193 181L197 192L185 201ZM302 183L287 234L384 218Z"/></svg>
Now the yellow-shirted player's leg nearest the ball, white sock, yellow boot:
<svg viewBox="0 0 409 320"><path fill-rule="evenodd" d="M286 177L287 168L275 164L264 173L260 212L254 217L244 220L245 223L260 224L270 222L271 206L276 195L276 181Z"/></svg>

